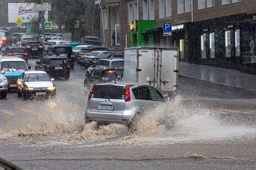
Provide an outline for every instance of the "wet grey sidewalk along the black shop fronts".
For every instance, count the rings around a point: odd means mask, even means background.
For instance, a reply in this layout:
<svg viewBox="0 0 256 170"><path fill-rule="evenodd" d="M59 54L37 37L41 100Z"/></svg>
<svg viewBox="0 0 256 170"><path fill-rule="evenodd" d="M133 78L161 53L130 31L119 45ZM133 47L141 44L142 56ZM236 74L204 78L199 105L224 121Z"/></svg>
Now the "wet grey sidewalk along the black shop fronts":
<svg viewBox="0 0 256 170"><path fill-rule="evenodd" d="M256 76L207 65L179 62L179 78L256 95Z"/></svg>

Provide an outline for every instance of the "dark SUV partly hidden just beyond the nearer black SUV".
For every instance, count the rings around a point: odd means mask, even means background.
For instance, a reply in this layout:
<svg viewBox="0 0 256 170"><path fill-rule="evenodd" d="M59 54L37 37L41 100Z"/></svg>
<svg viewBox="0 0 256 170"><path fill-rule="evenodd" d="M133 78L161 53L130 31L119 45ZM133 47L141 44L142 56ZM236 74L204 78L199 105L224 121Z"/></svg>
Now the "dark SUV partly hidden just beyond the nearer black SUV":
<svg viewBox="0 0 256 170"><path fill-rule="evenodd" d="M50 45L47 48L46 55L47 56L59 56L65 58L70 66L70 69L74 69L75 66L75 58L73 57L72 48L67 44L59 44L59 45Z"/></svg>

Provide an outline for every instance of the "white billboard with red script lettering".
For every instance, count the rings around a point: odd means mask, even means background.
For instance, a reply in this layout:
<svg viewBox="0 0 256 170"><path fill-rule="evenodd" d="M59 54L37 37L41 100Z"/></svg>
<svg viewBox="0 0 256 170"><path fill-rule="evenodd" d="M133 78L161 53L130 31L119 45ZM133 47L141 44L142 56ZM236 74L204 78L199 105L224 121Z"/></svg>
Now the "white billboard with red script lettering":
<svg viewBox="0 0 256 170"><path fill-rule="evenodd" d="M34 3L8 3L8 22L16 23L16 18L22 17L23 23L29 23L38 12L34 11ZM48 11L44 14L45 21L48 21Z"/></svg>

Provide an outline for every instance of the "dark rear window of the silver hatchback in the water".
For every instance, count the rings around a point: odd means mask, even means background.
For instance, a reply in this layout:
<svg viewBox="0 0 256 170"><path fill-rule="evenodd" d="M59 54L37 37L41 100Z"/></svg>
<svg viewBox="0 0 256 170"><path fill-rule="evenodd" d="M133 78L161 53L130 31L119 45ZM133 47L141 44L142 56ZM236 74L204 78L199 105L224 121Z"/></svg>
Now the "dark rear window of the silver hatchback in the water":
<svg viewBox="0 0 256 170"><path fill-rule="evenodd" d="M99 99L123 99L125 97L125 86L120 85L95 85L91 97Z"/></svg>

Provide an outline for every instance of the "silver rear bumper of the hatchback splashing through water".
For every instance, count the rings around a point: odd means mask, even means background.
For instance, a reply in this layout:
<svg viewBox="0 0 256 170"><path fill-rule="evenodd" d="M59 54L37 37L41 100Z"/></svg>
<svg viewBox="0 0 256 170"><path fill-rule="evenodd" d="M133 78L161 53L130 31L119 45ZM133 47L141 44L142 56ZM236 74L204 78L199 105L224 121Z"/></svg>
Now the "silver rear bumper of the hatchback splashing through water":
<svg viewBox="0 0 256 170"><path fill-rule="evenodd" d="M119 123L122 125L129 125L134 115L135 115L135 112L130 109L125 109L123 113L106 113L106 112L91 112L87 107L85 111L85 120L93 120L93 121L96 121L97 123L103 123L103 124Z"/></svg>

